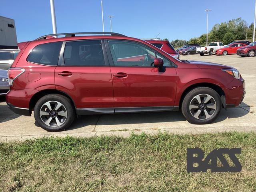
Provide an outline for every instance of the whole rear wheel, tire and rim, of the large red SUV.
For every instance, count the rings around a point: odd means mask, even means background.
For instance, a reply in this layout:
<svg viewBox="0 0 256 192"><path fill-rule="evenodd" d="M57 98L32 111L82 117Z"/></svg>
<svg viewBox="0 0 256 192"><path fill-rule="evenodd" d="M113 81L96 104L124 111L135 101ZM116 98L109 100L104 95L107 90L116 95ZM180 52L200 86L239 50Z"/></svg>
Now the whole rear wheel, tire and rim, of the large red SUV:
<svg viewBox="0 0 256 192"><path fill-rule="evenodd" d="M57 107L58 109L56 109ZM63 131L69 128L75 115L76 112L70 99L59 94L43 96L34 107L36 123L49 132Z"/></svg>

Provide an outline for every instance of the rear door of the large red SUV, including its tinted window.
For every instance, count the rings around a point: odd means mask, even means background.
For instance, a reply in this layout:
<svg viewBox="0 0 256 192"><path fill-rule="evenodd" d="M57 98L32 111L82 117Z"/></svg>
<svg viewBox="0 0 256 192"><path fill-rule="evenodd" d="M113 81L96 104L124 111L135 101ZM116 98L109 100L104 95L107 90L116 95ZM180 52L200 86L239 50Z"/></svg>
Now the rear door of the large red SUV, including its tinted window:
<svg viewBox="0 0 256 192"><path fill-rule="evenodd" d="M95 110L114 113L110 66L102 44L97 39L66 41L62 45L55 69L56 89L72 97L80 114Z"/></svg>

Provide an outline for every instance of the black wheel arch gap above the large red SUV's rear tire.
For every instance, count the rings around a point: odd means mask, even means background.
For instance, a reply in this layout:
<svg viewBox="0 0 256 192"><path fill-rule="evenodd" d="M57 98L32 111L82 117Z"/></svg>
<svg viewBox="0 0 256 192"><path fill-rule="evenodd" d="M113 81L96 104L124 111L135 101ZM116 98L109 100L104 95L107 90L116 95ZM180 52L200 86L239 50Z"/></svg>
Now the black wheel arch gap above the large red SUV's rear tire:
<svg viewBox="0 0 256 192"><path fill-rule="evenodd" d="M56 90L56 89L46 89L46 90L40 90L39 92L37 92L36 94L34 94L32 96L32 98L30 99L30 102L29 102L30 112L32 112L32 110L34 109L36 102L38 102L38 100L40 98L42 98L43 96L46 96L48 94L60 94L60 95L66 96L67 98L69 98L72 101L72 104L76 111L76 104L75 104L74 100L67 93L60 91L60 90ZM76 111L76 114L77 114L77 111Z"/></svg>

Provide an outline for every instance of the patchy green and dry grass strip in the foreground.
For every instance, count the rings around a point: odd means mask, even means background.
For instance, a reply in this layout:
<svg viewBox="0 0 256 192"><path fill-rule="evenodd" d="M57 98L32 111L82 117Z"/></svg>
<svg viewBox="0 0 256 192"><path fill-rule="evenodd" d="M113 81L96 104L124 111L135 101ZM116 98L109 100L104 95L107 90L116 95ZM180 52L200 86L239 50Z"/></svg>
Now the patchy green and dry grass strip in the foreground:
<svg viewBox="0 0 256 192"><path fill-rule="evenodd" d="M187 173L186 148L242 148L239 173ZM256 190L256 133L132 134L41 138L0 143L0 190L205 191Z"/></svg>

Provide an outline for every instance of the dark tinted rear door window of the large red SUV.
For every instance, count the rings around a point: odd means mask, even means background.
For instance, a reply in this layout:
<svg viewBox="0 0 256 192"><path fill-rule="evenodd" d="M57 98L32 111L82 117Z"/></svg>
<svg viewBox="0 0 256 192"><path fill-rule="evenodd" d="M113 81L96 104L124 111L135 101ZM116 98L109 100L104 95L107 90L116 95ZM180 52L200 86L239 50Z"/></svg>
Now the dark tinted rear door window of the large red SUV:
<svg viewBox="0 0 256 192"><path fill-rule="evenodd" d="M104 66L101 40L66 42L64 62L72 66Z"/></svg>

